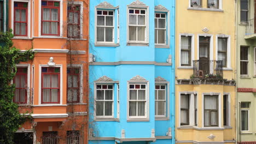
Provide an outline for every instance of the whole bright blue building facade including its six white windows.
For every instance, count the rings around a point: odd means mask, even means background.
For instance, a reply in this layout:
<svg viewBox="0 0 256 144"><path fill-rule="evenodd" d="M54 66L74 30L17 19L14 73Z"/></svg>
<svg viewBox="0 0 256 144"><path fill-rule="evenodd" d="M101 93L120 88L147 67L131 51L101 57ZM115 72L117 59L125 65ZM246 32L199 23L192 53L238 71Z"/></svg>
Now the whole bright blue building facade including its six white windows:
<svg viewBox="0 0 256 144"><path fill-rule="evenodd" d="M174 6L90 1L89 143L175 143Z"/></svg>

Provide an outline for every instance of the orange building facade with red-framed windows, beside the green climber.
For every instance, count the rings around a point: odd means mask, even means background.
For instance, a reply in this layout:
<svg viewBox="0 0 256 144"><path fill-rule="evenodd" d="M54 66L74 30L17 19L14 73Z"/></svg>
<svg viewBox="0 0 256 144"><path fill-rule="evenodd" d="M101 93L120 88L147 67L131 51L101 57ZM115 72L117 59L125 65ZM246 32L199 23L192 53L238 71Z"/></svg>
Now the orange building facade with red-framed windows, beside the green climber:
<svg viewBox="0 0 256 144"><path fill-rule="evenodd" d="M17 143L87 143L89 0L9 0L17 65L14 102L31 119ZM26 137L26 139L24 138Z"/></svg>

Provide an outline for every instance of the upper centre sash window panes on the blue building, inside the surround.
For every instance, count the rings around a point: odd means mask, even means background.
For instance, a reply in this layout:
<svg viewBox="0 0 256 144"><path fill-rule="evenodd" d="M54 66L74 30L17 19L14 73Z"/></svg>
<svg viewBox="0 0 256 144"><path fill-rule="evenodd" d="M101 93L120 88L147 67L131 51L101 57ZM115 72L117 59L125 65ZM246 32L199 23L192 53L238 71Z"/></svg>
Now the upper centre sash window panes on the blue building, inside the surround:
<svg viewBox="0 0 256 144"><path fill-rule="evenodd" d="M146 42L147 41L147 9L131 9L129 8L128 31L129 42Z"/></svg>

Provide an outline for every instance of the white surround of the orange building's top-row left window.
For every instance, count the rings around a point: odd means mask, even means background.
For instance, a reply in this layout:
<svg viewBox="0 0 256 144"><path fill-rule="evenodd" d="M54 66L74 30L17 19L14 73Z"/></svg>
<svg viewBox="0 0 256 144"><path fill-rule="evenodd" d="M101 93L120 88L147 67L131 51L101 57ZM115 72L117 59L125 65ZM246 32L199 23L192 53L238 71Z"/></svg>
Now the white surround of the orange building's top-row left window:
<svg viewBox="0 0 256 144"><path fill-rule="evenodd" d="M30 0L11 0L11 29L14 29L14 2L25 2L27 3L27 36L14 36L14 38L31 38L31 1ZM5 5L5 3L4 3ZM14 33L14 32L13 32Z"/></svg>

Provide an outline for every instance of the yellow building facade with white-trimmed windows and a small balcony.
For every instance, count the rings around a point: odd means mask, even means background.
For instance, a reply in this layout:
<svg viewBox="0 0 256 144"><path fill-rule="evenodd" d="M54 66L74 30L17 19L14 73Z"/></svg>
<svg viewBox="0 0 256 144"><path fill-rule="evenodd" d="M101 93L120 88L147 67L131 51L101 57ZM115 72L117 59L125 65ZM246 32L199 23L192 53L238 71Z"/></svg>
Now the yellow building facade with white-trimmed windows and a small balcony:
<svg viewBox="0 0 256 144"><path fill-rule="evenodd" d="M176 1L176 143L235 143L234 0Z"/></svg>

